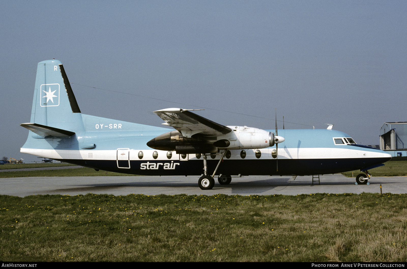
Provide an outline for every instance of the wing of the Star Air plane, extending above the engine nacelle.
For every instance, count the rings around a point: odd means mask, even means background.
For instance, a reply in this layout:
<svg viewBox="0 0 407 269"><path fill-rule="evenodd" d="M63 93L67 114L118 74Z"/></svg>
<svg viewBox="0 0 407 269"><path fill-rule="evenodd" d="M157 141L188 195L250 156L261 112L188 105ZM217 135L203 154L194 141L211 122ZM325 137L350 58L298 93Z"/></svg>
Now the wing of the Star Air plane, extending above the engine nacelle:
<svg viewBox="0 0 407 269"><path fill-rule="evenodd" d="M207 136L219 136L232 131L226 126L198 116L187 109L166 108L154 111L154 113L165 121L162 123L163 125L175 128L184 137L192 137L198 133Z"/></svg>

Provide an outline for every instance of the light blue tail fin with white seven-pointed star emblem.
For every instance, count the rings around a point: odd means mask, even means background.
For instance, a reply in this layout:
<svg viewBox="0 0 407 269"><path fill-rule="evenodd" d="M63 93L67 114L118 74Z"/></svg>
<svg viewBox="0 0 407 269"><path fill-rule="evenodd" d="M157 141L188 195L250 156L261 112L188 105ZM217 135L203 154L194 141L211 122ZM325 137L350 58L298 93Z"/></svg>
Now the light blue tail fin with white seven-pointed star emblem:
<svg viewBox="0 0 407 269"><path fill-rule="evenodd" d="M31 123L61 130L83 129L81 110L58 60L38 63Z"/></svg>

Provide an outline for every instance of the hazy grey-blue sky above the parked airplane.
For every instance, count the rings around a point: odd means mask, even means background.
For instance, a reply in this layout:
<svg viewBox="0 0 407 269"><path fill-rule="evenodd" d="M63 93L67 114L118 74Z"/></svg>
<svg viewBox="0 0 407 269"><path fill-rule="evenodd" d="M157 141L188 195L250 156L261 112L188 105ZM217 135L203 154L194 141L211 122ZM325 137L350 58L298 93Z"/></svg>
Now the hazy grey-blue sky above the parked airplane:
<svg viewBox="0 0 407 269"><path fill-rule="evenodd" d="M366 145L379 144L383 122L407 121L406 1L17 0L0 10L0 157L37 160L20 153L19 124L37 63L53 58L81 111L100 117L160 126L151 111L204 107L224 125L274 129L277 111L285 128L333 123Z"/></svg>

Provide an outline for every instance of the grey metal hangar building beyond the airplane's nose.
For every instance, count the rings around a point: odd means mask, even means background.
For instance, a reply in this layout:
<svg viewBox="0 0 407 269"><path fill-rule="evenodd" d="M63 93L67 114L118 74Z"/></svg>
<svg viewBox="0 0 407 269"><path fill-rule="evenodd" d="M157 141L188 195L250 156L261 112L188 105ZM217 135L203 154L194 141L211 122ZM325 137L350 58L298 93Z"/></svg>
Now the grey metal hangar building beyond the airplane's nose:
<svg viewBox="0 0 407 269"><path fill-rule="evenodd" d="M407 121L383 123L380 128L380 149L393 157L407 156Z"/></svg>

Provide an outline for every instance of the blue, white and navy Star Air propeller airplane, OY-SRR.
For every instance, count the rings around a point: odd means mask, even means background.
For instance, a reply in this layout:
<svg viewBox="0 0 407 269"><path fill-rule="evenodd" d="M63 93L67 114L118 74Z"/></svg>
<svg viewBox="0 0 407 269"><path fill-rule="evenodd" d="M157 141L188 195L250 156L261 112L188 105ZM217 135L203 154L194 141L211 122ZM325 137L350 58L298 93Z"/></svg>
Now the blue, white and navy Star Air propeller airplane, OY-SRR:
<svg viewBox="0 0 407 269"><path fill-rule="evenodd" d="M21 152L106 170L139 175L201 176L210 190L232 175L320 175L369 169L391 155L356 144L336 130L260 130L223 126L188 109L154 111L168 128L81 113L61 62L38 63L29 131ZM277 125L277 124L276 124ZM277 132L280 136L277 135ZM208 156L210 156L208 158Z"/></svg>

